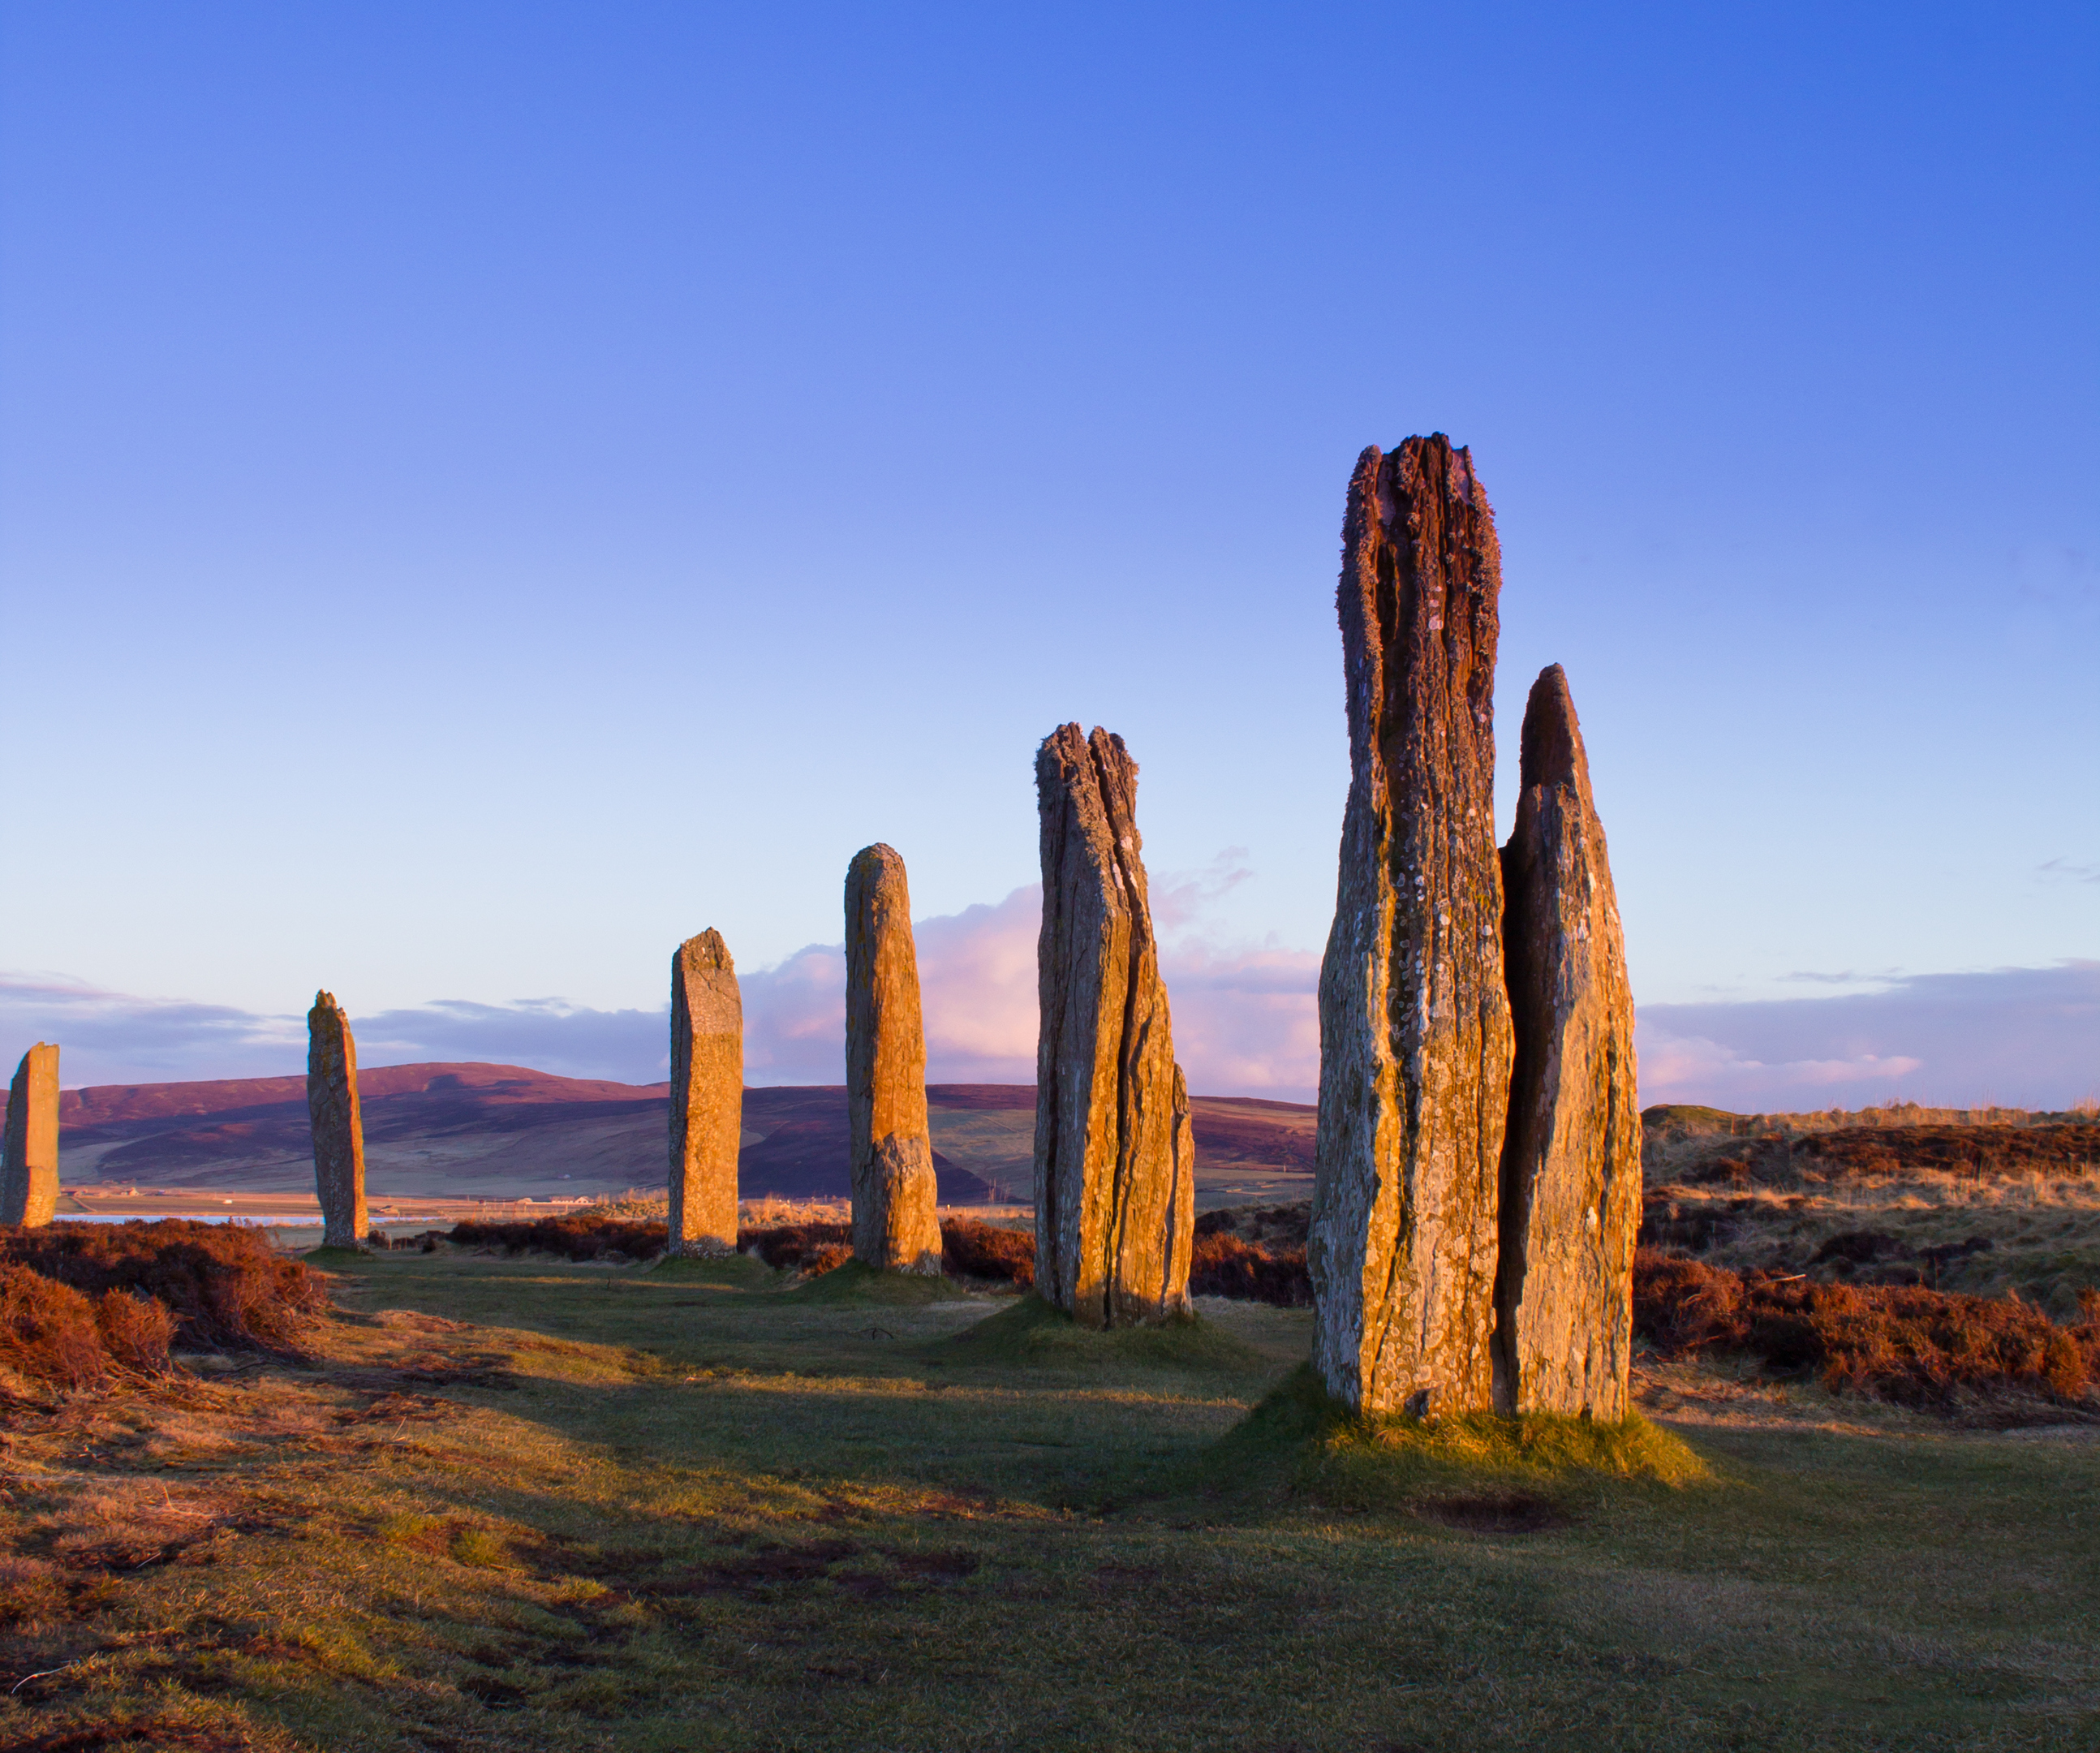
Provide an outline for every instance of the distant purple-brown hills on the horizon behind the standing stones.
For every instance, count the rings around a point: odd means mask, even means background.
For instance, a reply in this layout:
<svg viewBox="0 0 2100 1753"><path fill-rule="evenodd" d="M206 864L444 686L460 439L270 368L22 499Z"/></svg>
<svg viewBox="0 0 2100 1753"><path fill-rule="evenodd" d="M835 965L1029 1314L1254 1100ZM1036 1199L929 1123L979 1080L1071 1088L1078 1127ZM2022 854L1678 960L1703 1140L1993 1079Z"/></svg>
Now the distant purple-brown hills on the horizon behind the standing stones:
<svg viewBox="0 0 2100 1753"><path fill-rule="evenodd" d="M378 1197L546 1199L662 1186L668 1083L554 1077L519 1064L393 1064L357 1073L368 1184ZM1027 1199L1035 1090L926 1090L945 1203ZM1205 1203L1310 1188L1312 1108L1199 1096ZM304 1077L109 1083L59 1102L61 1178L155 1188L313 1188ZM746 1197L842 1199L844 1085L743 1092Z"/></svg>

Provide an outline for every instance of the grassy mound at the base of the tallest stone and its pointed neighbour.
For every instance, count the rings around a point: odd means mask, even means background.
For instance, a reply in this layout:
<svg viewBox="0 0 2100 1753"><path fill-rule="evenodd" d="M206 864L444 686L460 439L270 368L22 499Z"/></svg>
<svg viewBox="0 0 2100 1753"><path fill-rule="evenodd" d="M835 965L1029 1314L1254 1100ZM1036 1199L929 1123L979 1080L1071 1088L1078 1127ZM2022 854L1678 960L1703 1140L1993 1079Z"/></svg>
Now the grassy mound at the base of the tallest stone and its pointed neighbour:
<svg viewBox="0 0 2100 1753"><path fill-rule="evenodd" d="M1554 1413L1361 1417L1300 1365L1218 1442L1218 1488L1281 1486L1334 1509L1428 1514L1466 1526L1550 1526L1611 1486L1712 1480L1699 1455L1638 1413L1619 1423Z"/></svg>

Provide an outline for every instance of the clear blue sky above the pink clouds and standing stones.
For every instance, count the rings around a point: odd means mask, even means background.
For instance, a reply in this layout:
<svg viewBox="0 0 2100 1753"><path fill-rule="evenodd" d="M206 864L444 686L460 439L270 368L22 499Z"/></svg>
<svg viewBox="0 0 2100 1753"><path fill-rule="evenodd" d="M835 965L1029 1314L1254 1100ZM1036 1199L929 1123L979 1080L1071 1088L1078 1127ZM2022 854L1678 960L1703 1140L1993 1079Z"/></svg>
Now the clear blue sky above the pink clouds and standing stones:
<svg viewBox="0 0 2100 1753"><path fill-rule="evenodd" d="M872 840L991 917L1067 718L1186 966L1302 966L1342 491L1420 430L1648 1012L1823 1064L1804 1004L2075 985L2096 67L2050 4L0 4L0 1050L655 1014ZM2100 1085L2092 1004L1974 1031L1854 1058ZM153 1039L97 1077L265 1069Z"/></svg>

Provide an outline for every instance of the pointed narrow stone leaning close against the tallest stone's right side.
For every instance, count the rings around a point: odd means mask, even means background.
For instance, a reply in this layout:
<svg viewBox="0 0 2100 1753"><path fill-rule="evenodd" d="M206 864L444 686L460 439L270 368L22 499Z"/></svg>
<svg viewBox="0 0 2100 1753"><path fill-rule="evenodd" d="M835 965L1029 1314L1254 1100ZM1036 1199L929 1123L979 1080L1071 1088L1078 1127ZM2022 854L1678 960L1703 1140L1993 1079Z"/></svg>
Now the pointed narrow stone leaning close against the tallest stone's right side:
<svg viewBox="0 0 2100 1753"><path fill-rule="evenodd" d="M1525 707L1502 953L1516 1025L1502 1148L1495 1402L1623 1419L1640 1230L1634 989L1569 682Z"/></svg>

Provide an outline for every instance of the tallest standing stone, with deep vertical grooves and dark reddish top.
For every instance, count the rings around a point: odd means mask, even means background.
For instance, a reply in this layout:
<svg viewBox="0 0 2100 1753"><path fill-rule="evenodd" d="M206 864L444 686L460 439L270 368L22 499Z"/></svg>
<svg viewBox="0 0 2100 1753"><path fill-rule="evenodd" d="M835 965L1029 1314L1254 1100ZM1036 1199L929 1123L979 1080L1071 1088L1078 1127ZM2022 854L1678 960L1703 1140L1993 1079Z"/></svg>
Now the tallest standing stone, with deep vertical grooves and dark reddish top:
<svg viewBox="0 0 2100 1753"><path fill-rule="evenodd" d="M1365 1413L1493 1404L1510 1096L1495 854L1502 554L1443 435L1357 460L1342 525L1348 806L1319 978L1312 1360Z"/></svg>

